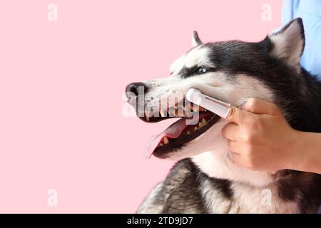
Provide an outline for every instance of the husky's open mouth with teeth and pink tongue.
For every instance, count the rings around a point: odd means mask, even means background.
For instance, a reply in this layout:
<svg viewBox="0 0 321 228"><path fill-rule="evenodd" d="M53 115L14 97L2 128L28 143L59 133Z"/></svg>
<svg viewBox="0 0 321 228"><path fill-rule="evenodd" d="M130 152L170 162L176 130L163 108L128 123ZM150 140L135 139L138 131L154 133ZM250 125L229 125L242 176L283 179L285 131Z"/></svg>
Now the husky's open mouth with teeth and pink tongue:
<svg viewBox="0 0 321 228"><path fill-rule="evenodd" d="M186 107L182 108L183 110L186 110ZM141 117L142 120L150 123L165 120L170 117L180 118L180 120L177 120L166 128L163 133L151 138L146 147L146 151L144 152L145 157L149 158L151 155L160 158L168 157L167 154L169 152L180 150L185 143L198 138L198 136L205 133L206 130L220 120L218 115L215 115L215 113L212 113L203 107L193 107L193 105L190 104L189 108L191 108L189 115L184 111L183 114L181 113L179 115L177 105L175 105L174 108L169 108L167 110L169 117L164 116L163 113L160 117Z"/></svg>

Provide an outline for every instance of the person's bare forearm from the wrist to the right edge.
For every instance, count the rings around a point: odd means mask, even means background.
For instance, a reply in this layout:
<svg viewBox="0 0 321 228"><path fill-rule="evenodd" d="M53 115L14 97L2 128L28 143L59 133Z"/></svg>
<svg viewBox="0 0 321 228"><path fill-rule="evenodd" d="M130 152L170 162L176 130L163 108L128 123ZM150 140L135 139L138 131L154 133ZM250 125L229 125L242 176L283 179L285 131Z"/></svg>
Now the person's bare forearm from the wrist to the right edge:
<svg viewBox="0 0 321 228"><path fill-rule="evenodd" d="M287 168L321 174L321 133L297 132Z"/></svg>

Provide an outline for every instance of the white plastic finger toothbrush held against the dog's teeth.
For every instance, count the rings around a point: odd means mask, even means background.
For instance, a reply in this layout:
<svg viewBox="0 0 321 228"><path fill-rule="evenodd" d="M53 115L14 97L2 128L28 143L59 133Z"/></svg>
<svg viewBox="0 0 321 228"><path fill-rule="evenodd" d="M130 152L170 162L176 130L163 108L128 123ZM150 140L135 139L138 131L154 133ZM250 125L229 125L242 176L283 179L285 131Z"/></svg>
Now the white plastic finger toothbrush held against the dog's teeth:
<svg viewBox="0 0 321 228"><path fill-rule="evenodd" d="M191 103L202 106L207 110L215 113L220 116L220 118L227 118L228 113L230 112L230 103L225 103L221 100L211 98L208 95L205 95L200 92L200 90L195 88L190 88L186 93L186 98Z"/></svg>

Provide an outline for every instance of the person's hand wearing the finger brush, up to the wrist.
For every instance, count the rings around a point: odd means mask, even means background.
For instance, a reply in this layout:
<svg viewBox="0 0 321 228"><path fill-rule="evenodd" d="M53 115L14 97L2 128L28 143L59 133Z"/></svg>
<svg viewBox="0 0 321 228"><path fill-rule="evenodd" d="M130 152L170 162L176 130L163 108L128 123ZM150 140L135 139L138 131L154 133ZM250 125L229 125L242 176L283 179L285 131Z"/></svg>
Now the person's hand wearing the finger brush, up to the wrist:
<svg viewBox="0 0 321 228"><path fill-rule="evenodd" d="M276 171L290 167L299 139L277 105L250 98L242 108L232 107L222 134L228 139L235 164L251 170Z"/></svg>

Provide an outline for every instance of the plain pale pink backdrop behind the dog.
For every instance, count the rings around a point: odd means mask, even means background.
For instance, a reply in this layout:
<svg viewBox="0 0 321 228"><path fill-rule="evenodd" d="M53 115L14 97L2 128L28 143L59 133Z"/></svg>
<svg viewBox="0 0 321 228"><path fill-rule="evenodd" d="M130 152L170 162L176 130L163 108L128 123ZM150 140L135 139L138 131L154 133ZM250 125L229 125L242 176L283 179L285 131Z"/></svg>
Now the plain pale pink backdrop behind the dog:
<svg viewBox="0 0 321 228"><path fill-rule="evenodd" d="M265 3L272 21L261 19ZM142 156L170 121L125 118L126 84L168 76L194 29L203 41L263 39L281 4L1 1L0 212L135 212L173 163Z"/></svg>

